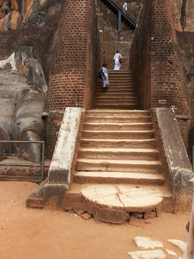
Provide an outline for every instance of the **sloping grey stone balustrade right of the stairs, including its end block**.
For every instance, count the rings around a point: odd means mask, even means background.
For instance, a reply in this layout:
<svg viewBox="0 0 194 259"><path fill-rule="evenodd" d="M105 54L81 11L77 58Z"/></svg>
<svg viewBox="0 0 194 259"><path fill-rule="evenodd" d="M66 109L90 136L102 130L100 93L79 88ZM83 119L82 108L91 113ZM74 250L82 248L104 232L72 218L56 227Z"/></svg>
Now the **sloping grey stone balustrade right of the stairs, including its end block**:
<svg viewBox="0 0 194 259"><path fill-rule="evenodd" d="M181 133L173 108L156 108L156 117L160 129L164 151L169 167L169 178L173 182L175 210L191 208L193 197L193 173L185 150Z"/></svg>

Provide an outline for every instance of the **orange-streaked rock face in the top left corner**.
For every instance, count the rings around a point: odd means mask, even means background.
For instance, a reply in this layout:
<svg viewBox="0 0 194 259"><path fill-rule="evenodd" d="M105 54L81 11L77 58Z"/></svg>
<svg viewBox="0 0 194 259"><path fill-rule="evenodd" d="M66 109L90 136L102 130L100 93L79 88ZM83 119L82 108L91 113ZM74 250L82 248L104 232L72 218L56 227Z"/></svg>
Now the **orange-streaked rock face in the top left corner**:
<svg viewBox="0 0 194 259"><path fill-rule="evenodd" d="M0 0L0 31L44 25L51 5L61 0Z"/></svg>

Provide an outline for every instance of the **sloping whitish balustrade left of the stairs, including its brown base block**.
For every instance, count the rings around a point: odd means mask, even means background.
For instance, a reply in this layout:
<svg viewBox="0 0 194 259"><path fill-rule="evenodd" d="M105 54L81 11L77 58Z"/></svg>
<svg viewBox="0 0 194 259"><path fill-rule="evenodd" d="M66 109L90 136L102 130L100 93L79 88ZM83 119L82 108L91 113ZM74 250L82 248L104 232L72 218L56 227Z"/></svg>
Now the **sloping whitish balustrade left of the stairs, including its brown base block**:
<svg viewBox="0 0 194 259"><path fill-rule="evenodd" d="M72 182L77 140L85 109L66 108L61 124L53 159L49 169L48 183L44 186L44 208L64 209L64 196Z"/></svg>

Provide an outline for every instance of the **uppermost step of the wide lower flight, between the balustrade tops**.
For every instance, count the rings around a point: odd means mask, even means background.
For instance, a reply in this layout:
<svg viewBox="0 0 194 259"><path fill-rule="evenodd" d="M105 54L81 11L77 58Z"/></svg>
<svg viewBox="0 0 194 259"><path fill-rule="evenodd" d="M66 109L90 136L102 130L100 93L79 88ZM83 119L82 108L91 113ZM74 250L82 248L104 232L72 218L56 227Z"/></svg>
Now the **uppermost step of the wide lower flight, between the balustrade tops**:
<svg viewBox="0 0 194 259"><path fill-rule="evenodd" d="M114 109L92 109L85 111L86 116L150 116L150 111L142 110L114 110Z"/></svg>

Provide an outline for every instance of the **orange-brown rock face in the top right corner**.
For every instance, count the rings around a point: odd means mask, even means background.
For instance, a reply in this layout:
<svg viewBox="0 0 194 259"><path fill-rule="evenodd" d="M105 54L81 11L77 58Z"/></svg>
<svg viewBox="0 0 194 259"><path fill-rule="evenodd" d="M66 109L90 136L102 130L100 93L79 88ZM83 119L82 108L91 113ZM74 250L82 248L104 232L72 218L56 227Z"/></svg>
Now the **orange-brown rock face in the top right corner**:
<svg viewBox="0 0 194 259"><path fill-rule="evenodd" d="M178 31L194 31L193 0L171 0L175 29Z"/></svg>

